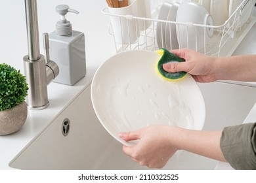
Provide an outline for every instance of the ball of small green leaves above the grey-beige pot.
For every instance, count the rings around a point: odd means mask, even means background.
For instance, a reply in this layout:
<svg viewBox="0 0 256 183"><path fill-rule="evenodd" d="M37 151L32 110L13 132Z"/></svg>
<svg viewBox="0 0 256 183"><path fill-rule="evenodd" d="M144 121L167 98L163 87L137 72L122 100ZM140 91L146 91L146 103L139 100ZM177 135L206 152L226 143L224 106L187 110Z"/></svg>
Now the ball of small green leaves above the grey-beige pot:
<svg viewBox="0 0 256 183"><path fill-rule="evenodd" d="M24 102L28 95L26 77L5 63L0 64L0 111Z"/></svg>

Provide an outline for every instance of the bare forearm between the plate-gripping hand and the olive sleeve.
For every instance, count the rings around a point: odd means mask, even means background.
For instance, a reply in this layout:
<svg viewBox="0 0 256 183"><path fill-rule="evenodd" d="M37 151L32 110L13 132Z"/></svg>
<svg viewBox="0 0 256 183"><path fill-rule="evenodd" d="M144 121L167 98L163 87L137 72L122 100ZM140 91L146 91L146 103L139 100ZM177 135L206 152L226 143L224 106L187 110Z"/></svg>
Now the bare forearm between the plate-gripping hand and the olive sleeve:
<svg viewBox="0 0 256 183"><path fill-rule="evenodd" d="M179 150L226 161L221 151L221 131L196 131L177 128L171 131L170 143L175 143Z"/></svg>

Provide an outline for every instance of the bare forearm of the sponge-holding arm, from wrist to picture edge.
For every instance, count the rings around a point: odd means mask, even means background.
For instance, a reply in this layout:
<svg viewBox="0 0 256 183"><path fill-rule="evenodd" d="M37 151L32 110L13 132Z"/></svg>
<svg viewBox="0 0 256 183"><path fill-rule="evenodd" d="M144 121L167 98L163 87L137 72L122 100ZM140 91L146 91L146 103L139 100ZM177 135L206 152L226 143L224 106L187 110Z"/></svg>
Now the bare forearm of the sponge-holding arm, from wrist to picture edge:
<svg viewBox="0 0 256 183"><path fill-rule="evenodd" d="M256 82L256 55L215 58L217 80Z"/></svg>

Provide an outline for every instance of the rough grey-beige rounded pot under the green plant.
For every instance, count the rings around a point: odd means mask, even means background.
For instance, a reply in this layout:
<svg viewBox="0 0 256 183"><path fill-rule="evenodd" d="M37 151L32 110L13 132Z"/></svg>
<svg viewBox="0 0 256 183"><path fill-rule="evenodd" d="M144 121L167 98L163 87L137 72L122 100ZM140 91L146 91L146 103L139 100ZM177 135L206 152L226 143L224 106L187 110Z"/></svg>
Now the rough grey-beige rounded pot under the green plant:
<svg viewBox="0 0 256 183"><path fill-rule="evenodd" d="M26 122L27 116L28 107L26 102L0 111L0 135L9 135L18 131Z"/></svg>

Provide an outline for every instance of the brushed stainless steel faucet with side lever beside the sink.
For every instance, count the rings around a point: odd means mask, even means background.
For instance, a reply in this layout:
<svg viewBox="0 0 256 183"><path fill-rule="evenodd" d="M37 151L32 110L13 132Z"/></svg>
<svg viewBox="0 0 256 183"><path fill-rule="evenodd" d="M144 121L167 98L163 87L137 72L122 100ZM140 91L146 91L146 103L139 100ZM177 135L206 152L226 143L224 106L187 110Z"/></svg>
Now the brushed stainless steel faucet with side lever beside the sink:
<svg viewBox="0 0 256 183"><path fill-rule="evenodd" d="M37 1L25 0L28 55L24 56L24 72L28 82L28 108L41 110L49 106L47 84L59 73L58 65L49 58L49 37L43 33L45 56L40 54Z"/></svg>

